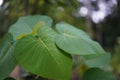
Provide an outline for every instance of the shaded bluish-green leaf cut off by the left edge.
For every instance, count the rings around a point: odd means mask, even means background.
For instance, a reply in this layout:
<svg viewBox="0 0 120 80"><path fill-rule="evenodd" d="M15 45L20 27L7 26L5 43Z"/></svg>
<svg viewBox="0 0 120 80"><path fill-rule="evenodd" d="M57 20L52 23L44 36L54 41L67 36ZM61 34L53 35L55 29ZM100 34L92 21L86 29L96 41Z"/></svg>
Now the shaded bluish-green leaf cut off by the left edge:
<svg viewBox="0 0 120 80"><path fill-rule="evenodd" d="M11 71L16 66L15 58L13 57L14 45L10 34L6 34L0 41L0 80L8 77Z"/></svg>

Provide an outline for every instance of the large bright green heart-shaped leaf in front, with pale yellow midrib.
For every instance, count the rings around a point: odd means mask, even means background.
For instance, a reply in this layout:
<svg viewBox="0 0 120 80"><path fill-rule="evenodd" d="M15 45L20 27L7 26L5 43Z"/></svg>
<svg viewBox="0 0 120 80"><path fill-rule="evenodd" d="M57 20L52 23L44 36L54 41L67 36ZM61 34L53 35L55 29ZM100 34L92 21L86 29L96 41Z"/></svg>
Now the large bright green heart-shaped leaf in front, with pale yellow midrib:
<svg viewBox="0 0 120 80"><path fill-rule="evenodd" d="M31 73L69 80L72 59L56 47L55 34L50 27L40 27L36 36L27 35L18 41L14 55L18 63Z"/></svg>

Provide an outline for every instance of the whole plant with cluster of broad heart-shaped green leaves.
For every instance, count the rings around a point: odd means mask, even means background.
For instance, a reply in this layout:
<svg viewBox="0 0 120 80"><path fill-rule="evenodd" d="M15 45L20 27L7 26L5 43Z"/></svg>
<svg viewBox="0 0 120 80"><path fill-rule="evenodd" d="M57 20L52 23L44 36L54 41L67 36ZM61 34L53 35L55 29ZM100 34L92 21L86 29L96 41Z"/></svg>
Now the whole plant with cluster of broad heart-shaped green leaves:
<svg viewBox="0 0 120 80"><path fill-rule="evenodd" d="M89 67L103 68L110 60L97 42L70 24L52 27L48 16L21 17L0 42L0 80L16 64L48 79L70 80L73 55L84 57Z"/></svg>

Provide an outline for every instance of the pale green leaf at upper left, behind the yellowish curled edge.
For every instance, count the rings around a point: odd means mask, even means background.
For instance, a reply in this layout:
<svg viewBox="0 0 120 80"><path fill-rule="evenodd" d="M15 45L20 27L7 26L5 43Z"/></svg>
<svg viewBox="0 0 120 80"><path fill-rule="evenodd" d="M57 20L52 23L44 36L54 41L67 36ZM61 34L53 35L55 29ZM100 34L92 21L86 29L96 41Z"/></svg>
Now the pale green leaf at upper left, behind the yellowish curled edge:
<svg viewBox="0 0 120 80"><path fill-rule="evenodd" d="M14 40L16 40L21 36L32 33L36 25L51 26L52 19L41 15L21 17L10 27L9 32L13 35Z"/></svg>

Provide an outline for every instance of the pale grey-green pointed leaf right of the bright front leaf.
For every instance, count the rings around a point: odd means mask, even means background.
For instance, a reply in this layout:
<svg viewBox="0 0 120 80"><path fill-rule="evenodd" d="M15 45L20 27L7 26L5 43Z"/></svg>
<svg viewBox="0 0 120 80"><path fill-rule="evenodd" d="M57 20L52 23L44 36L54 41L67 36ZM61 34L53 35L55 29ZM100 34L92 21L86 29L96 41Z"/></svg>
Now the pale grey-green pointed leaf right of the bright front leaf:
<svg viewBox="0 0 120 80"><path fill-rule="evenodd" d="M62 50L76 55L103 54L101 46L83 31L66 23L56 25L58 35L55 42Z"/></svg>

